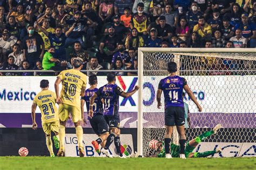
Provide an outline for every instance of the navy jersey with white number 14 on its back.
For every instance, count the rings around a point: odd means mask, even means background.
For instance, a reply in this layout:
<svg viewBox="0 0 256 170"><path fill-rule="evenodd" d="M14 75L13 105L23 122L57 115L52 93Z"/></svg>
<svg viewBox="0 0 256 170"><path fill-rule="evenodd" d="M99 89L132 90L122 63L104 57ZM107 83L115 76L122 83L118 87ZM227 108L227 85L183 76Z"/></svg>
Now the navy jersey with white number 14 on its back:
<svg viewBox="0 0 256 170"><path fill-rule="evenodd" d="M168 76L160 80L158 89L164 92L165 108L170 106L184 107L182 93L186 84L186 79L179 76Z"/></svg>

